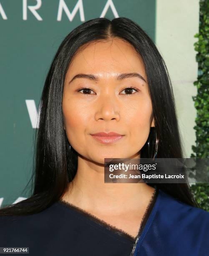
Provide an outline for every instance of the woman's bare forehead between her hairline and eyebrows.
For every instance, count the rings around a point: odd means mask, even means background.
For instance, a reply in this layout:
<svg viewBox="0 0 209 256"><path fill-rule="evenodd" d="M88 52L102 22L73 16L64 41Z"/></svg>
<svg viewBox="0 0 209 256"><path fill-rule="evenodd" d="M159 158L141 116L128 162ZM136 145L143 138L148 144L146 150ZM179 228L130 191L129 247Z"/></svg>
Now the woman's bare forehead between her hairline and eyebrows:
<svg viewBox="0 0 209 256"><path fill-rule="evenodd" d="M113 74L139 72L146 77L141 57L126 41L114 38L108 41L93 41L73 57L66 74L71 78L78 73L97 74L107 77Z"/></svg>

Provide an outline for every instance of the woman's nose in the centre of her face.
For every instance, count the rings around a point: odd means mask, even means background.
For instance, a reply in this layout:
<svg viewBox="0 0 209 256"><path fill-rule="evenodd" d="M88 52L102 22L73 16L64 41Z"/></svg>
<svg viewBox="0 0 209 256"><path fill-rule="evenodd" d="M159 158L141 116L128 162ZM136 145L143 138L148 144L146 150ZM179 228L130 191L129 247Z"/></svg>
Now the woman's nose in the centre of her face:
<svg viewBox="0 0 209 256"><path fill-rule="evenodd" d="M119 114L119 106L117 100L110 95L106 95L106 97L100 97L98 102L96 102L96 113L95 120L120 120Z"/></svg>

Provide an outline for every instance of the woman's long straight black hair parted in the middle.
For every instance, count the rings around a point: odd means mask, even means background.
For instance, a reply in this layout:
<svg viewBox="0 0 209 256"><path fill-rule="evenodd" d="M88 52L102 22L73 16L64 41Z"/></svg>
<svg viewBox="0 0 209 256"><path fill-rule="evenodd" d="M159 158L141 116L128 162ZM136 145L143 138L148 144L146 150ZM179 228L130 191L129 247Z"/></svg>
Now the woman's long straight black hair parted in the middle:
<svg viewBox="0 0 209 256"><path fill-rule="evenodd" d="M182 158L171 80L154 42L138 24L128 18L88 20L64 38L45 80L38 113L39 128L35 136L33 174L29 181L32 181L31 196L0 209L0 215L29 215L40 212L60 200L67 191L68 182L73 180L77 171L78 153L70 147L63 126L62 97L65 75L73 56L82 47L92 41L115 37L129 42L143 59L154 111L155 132L159 140L156 157ZM150 129L148 140L153 137L152 130ZM148 143L141 149L141 158L143 157L152 157ZM199 207L189 184L155 185L177 200Z"/></svg>

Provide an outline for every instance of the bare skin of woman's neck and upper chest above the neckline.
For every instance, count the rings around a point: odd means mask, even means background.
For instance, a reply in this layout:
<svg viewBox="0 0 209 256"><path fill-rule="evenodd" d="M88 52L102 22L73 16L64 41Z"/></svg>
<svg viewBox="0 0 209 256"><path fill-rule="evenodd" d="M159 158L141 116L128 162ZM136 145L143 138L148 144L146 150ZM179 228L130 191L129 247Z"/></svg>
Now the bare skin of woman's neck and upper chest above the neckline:
<svg viewBox="0 0 209 256"><path fill-rule="evenodd" d="M104 183L103 169L78 168L60 199L135 238L154 191L146 183Z"/></svg>

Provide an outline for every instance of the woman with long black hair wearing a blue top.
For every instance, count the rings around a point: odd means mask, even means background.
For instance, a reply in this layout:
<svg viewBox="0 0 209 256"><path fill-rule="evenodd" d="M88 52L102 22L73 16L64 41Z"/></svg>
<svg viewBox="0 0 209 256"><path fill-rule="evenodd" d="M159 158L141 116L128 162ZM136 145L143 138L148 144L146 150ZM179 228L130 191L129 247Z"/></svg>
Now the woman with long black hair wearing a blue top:
<svg viewBox="0 0 209 256"><path fill-rule="evenodd" d="M209 213L188 184L104 183L104 158L153 157L182 158L164 60L128 18L89 20L50 66L33 193L0 210L0 246L44 256L208 255Z"/></svg>

